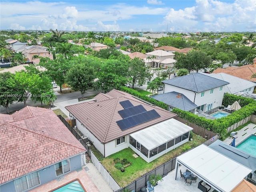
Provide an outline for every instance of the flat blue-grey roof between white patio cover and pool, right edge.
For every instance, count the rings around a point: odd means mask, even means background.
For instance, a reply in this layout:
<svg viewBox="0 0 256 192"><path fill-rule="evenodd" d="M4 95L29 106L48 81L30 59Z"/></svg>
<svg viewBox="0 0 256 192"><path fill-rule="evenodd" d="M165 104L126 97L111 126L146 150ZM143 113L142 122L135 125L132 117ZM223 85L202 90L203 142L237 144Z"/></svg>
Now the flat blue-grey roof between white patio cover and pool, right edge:
<svg viewBox="0 0 256 192"><path fill-rule="evenodd" d="M216 140L214 143L210 144L209 147L231 158L232 160L235 160L236 162L252 169L252 172L256 170L256 157L238 148L227 145L220 140Z"/></svg>

